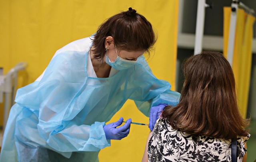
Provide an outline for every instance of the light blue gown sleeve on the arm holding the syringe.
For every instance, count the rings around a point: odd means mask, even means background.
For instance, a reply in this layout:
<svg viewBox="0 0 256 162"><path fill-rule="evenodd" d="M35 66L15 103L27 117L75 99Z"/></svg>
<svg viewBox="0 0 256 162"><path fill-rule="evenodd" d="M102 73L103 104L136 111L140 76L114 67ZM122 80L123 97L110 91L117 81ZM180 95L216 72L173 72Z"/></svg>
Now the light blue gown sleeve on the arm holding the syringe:
<svg viewBox="0 0 256 162"><path fill-rule="evenodd" d="M110 146L103 130L105 122L84 125L81 118L75 118L86 109L86 98L81 97L86 80L85 59L80 55L84 54L58 54L36 86L28 85L17 93L20 105L39 110L39 134L60 152L98 151Z"/></svg>

